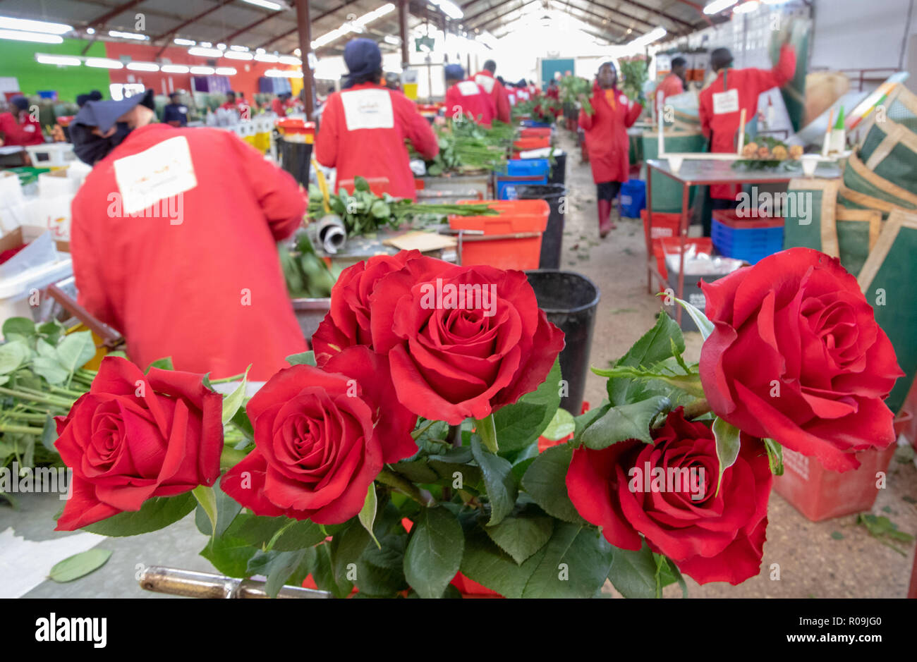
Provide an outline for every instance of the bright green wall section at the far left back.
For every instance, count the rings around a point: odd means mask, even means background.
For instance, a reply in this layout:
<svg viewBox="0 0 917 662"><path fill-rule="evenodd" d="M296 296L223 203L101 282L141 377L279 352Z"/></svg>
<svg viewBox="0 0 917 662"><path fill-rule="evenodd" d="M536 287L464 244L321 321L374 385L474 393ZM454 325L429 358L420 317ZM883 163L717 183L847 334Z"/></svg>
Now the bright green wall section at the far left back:
<svg viewBox="0 0 917 662"><path fill-rule="evenodd" d="M20 91L27 95L39 90L57 90L61 102L75 102L77 94L90 90L99 90L107 98L110 82L107 69L58 67L35 61L35 53L81 55L87 43L83 39L64 39L62 44L0 39L0 76L15 76ZM105 43L96 41L85 54L104 58Z"/></svg>

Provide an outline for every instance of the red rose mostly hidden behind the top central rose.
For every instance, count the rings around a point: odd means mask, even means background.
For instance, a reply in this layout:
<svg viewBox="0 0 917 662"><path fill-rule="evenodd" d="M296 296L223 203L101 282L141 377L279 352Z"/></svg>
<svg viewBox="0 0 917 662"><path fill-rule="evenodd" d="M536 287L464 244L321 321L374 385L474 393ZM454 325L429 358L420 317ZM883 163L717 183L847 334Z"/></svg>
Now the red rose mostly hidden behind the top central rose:
<svg viewBox="0 0 917 662"><path fill-rule="evenodd" d="M402 250L396 255L379 255L341 271L331 289L331 310L312 337L315 362L326 361L344 348L371 348L370 294L383 276L397 271L409 259L420 258L419 250Z"/></svg>

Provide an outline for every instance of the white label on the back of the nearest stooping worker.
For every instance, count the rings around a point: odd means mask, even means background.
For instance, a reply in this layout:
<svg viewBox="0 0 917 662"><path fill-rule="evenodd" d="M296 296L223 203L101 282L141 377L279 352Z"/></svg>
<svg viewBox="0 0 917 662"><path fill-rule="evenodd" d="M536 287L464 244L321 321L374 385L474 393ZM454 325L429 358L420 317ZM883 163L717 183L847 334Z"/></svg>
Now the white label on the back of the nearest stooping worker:
<svg viewBox="0 0 917 662"><path fill-rule="evenodd" d="M188 139L176 136L115 161L124 214L136 214L197 186Z"/></svg>

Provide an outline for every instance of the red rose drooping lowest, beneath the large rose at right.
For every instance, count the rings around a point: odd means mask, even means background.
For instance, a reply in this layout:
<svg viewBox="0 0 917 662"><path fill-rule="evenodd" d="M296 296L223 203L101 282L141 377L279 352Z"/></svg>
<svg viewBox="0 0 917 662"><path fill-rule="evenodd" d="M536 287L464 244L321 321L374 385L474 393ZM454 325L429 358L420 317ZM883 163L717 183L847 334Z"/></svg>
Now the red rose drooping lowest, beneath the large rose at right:
<svg viewBox="0 0 917 662"><path fill-rule="evenodd" d="M639 549L643 534L701 584L757 575L773 480L764 446L743 436L716 493L720 464L707 425L686 421L679 407L653 437L573 451L567 490L580 515L621 549Z"/></svg>

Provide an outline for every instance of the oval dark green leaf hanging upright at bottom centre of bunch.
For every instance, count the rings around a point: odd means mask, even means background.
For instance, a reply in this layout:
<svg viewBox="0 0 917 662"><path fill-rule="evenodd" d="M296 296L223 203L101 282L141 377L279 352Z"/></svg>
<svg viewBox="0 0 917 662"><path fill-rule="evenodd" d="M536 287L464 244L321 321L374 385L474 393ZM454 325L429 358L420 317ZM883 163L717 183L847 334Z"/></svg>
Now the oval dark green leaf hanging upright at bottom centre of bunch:
<svg viewBox="0 0 917 662"><path fill-rule="evenodd" d="M424 508L404 552L404 577L420 597L441 598L458 572L464 548L455 515L442 507Z"/></svg>

